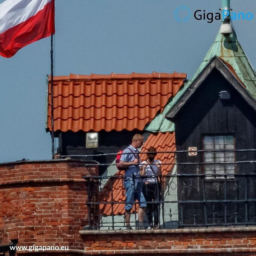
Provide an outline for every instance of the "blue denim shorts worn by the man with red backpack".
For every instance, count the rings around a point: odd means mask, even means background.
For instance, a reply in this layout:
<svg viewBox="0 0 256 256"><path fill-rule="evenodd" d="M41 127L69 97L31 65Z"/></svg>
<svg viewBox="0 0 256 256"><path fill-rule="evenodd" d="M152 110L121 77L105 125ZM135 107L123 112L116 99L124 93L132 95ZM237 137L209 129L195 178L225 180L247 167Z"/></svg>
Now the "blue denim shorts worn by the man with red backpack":
<svg viewBox="0 0 256 256"><path fill-rule="evenodd" d="M131 210L137 199L140 207L146 207L146 200L142 193L142 182L125 179L125 210Z"/></svg>

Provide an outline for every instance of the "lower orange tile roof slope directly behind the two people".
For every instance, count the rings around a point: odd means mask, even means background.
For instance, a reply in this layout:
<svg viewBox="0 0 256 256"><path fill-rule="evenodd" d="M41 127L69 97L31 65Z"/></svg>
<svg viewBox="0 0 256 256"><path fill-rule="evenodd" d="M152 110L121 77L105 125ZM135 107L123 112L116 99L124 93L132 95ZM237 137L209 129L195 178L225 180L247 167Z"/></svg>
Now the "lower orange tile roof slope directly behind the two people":
<svg viewBox="0 0 256 256"><path fill-rule="evenodd" d="M153 146L158 152L160 151L176 151L175 145L175 133L158 133L151 134L146 142L143 145L141 152L146 152L150 146ZM141 159L145 159L146 154L141 154ZM174 163L175 158L174 154L170 153L158 153L156 159L159 159L162 163ZM173 168L173 164L170 165L162 165L162 174L168 174ZM119 175L123 175L123 171L118 171L114 175L114 177L119 177ZM105 184L101 201L111 202L111 189L113 188L113 201L114 202L124 202L125 201L125 189L122 184L122 179L112 178L109 179ZM112 215L111 204L101 204L100 205L101 214L105 216ZM134 212L134 207L132 209ZM114 215L123 215L124 214L124 204L113 204L113 213Z"/></svg>

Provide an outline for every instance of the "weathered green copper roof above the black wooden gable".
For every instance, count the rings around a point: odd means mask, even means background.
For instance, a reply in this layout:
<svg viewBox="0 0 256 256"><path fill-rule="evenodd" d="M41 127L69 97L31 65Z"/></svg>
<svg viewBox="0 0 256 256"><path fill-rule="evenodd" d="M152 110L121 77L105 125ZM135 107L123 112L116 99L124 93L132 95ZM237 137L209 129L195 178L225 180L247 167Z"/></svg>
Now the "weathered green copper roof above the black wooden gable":
<svg viewBox="0 0 256 256"><path fill-rule="evenodd" d="M248 92L256 99L256 72L251 66L247 56L244 53L240 43L237 40L235 30L233 28L233 34L229 37L218 34L210 47L209 51L203 59L197 72L195 72L192 79L188 80L183 88L172 98L172 100L166 105L162 114L158 114L145 128L147 131L152 132L167 132L174 131L174 124L165 118L165 115L169 112L172 106L180 99L181 95L189 88L194 79L202 72L204 67L208 64L211 58L214 56L221 57L224 61L228 62L235 70L238 77L245 84Z"/></svg>

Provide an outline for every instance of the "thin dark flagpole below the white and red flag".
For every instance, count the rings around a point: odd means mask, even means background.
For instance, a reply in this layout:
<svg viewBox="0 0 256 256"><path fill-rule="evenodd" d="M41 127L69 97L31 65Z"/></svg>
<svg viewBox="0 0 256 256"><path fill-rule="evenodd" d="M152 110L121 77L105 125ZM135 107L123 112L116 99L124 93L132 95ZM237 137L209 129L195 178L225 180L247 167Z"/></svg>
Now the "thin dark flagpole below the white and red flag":
<svg viewBox="0 0 256 256"><path fill-rule="evenodd" d="M52 159L54 159L54 116L53 116L53 34L51 34L51 123L52 123Z"/></svg>

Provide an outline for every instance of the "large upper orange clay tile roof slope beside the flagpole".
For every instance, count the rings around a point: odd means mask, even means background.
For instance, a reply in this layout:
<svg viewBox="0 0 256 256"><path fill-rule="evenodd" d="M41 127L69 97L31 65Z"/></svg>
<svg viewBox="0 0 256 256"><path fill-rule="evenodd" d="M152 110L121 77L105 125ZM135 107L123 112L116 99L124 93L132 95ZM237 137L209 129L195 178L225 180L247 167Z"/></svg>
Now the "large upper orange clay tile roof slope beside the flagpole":
<svg viewBox="0 0 256 256"><path fill-rule="evenodd" d="M184 73L55 76L54 130L143 130L183 85ZM50 78L47 130L51 130Z"/></svg>

